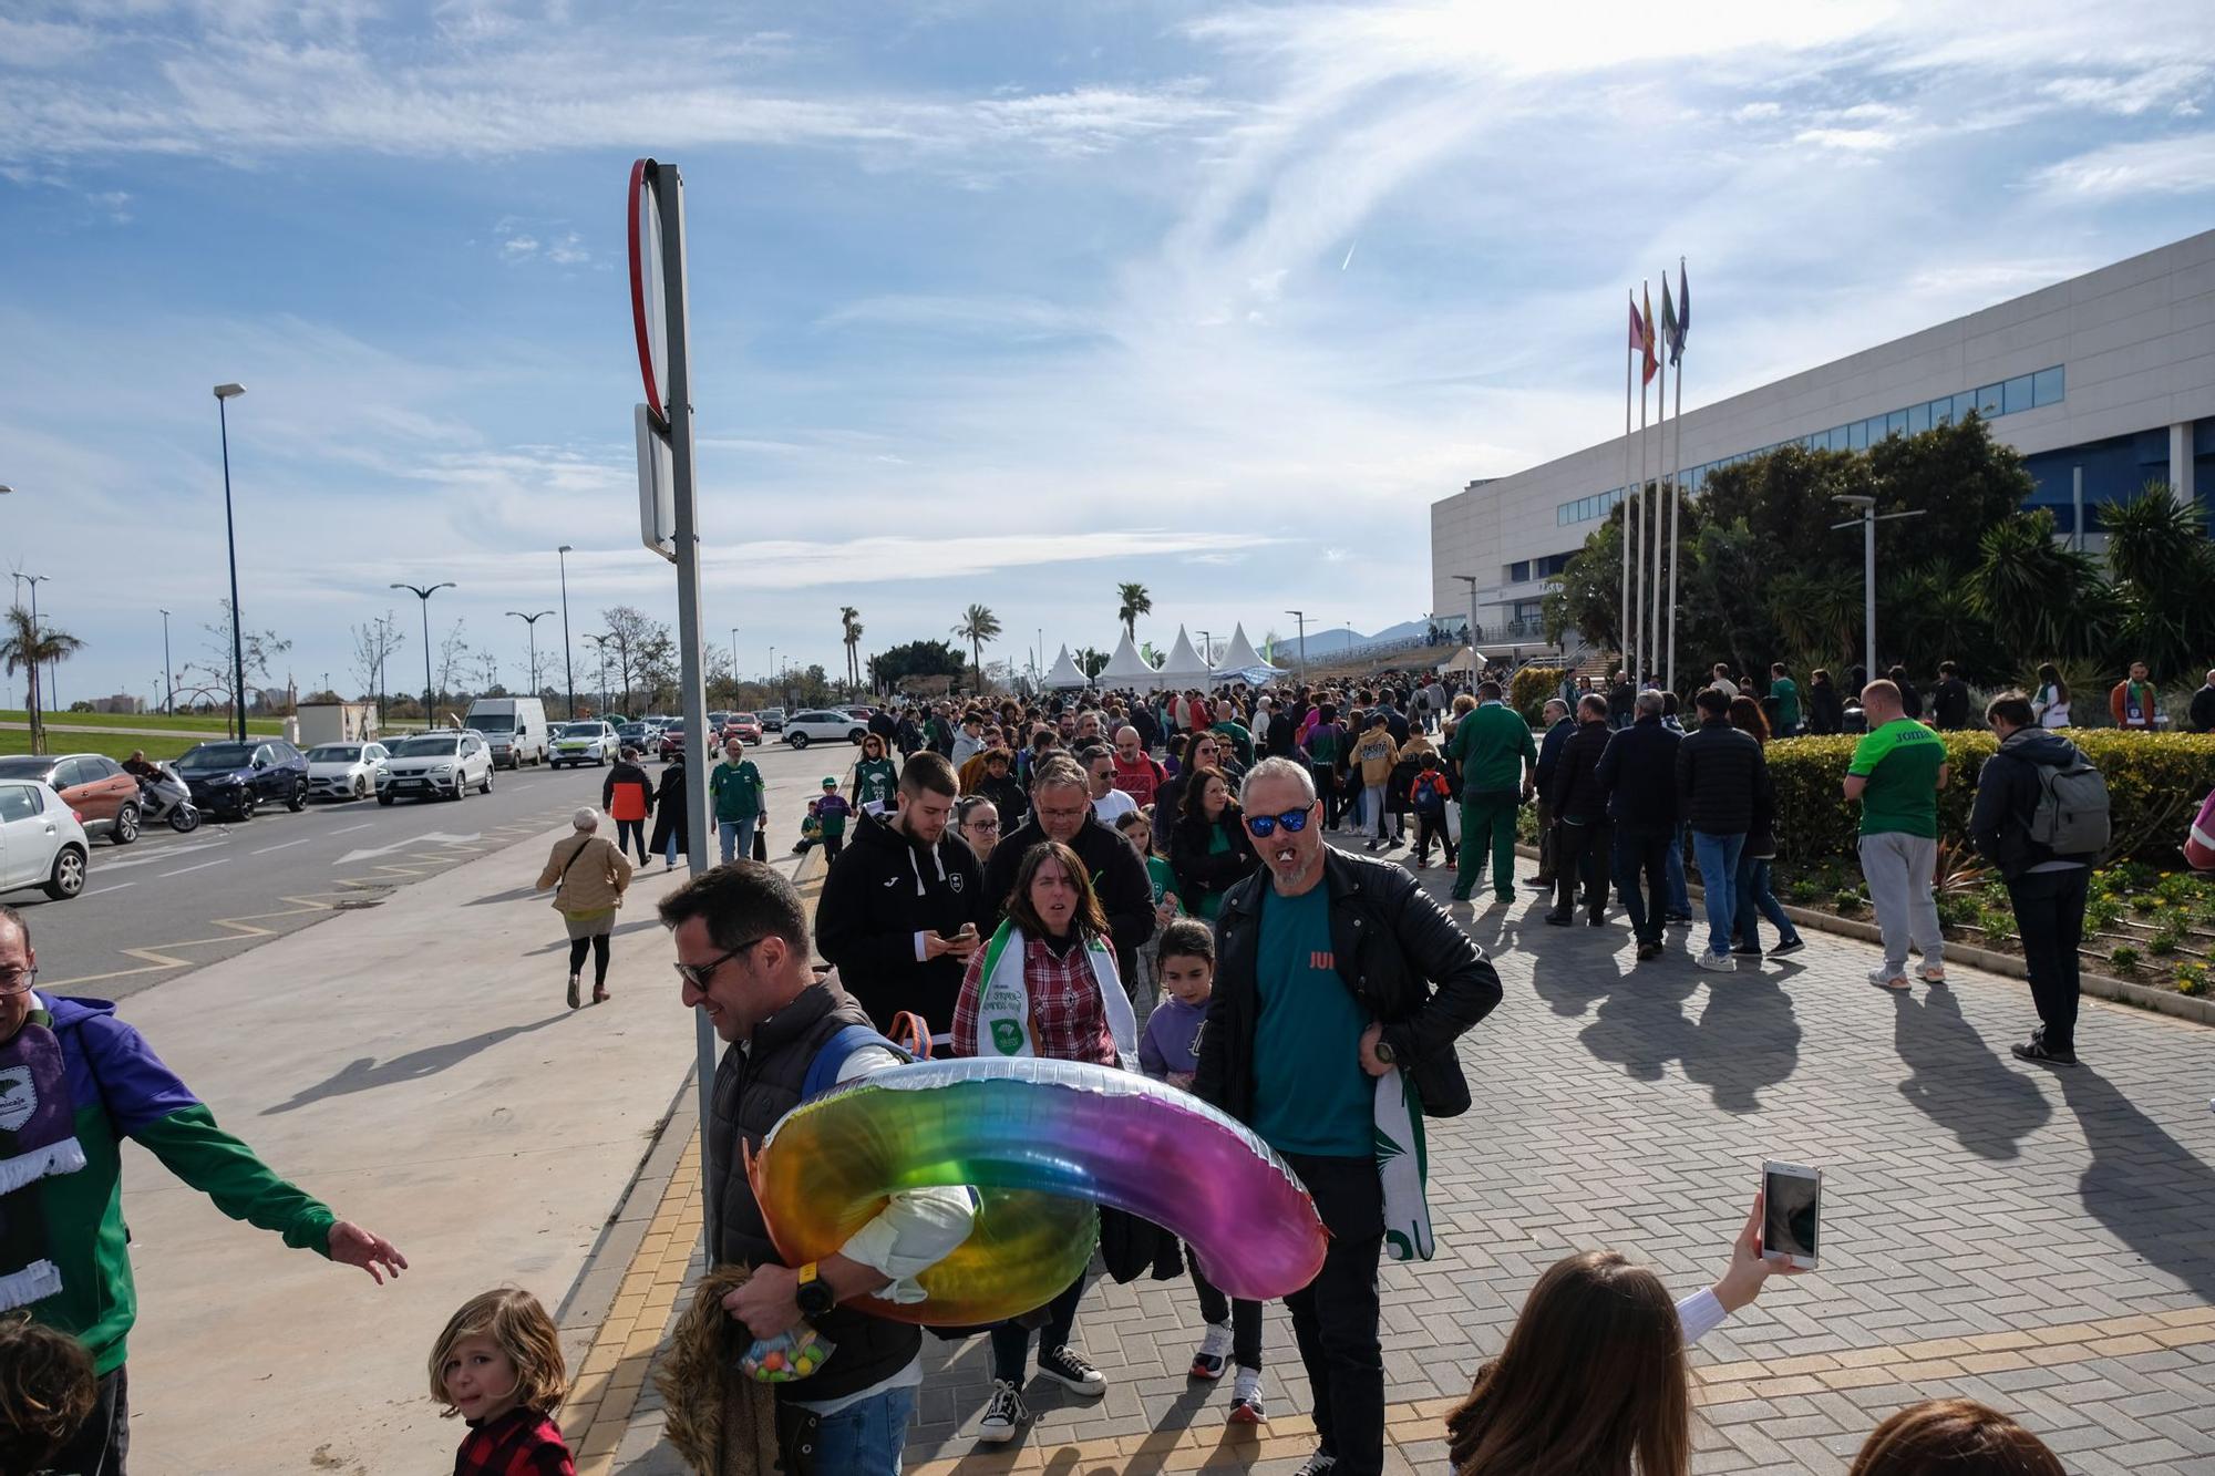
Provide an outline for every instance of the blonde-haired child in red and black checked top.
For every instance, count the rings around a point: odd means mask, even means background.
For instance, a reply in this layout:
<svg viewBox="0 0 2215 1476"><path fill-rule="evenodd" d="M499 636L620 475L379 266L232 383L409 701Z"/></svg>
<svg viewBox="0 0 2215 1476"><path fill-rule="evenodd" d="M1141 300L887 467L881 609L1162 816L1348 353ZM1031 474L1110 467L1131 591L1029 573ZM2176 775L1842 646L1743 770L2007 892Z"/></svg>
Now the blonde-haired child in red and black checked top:
<svg viewBox="0 0 2215 1476"><path fill-rule="evenodd" d="M430 1396L470 1425L454 1476L576 1476L554 1410L569 1392L560 1332L518 1288L481 1292L430 1352Z"/></svg>

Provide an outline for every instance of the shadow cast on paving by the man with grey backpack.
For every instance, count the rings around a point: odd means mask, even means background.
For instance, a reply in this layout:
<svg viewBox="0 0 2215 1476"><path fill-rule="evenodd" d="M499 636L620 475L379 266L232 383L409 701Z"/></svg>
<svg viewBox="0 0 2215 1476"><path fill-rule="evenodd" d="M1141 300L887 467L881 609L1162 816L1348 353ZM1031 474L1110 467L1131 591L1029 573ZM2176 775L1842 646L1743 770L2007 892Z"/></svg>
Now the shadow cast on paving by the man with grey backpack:
<svg viewBox="0 0 2215 1476"><path fill-rule="evenodd" d="M2106 1077L2084 1066L2053 1075L2091 1148L2091 1166L2078 1181L2084 1208L2193 1296L2215 1301L2215 1168Z"/></svg>

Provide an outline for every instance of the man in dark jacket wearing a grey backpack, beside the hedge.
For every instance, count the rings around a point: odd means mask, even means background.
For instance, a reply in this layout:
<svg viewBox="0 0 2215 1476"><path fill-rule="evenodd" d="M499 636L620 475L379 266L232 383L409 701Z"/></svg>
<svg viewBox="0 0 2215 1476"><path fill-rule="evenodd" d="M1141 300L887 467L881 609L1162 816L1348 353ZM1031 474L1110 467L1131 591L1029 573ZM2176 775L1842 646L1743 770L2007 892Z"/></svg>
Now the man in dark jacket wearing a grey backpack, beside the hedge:
<svg viewBox="0 0 2215 1476"><path fill-rule="evenodd" d="M1996 696L1985 720L1998 734L2000 751L1976 776L1969 840L2007 882L2040 1022L2013 1053L2025 1062L2075 1066L2078 944L2084 940L2084 893L2098 855L2056 855L2031 840L2031 816L2042 791L2038 771L2069 769L2084 756L2060 734L2038 727L2020 691Z"/></svg>

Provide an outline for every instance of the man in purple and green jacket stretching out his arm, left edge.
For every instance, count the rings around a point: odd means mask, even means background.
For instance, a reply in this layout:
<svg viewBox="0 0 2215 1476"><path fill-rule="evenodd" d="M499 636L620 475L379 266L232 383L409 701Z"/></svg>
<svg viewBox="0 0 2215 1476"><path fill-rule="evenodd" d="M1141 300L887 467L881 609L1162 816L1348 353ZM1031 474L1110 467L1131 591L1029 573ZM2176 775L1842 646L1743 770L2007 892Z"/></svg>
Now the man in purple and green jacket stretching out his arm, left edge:
<svg viewBox="0 0 2215 1476"><path fill-rule="evenodd" d="M224 1214L286 1246L359 1265L383 1285L408 1268L392 1241L339 1219L270 1172L106 1000L40 995L31 929L0 906L0 1316L73 1334L93 1356L100 1403L55 1472L124 1476L137 1316L122 1214L120 1139L151 1150Z"/></svg>

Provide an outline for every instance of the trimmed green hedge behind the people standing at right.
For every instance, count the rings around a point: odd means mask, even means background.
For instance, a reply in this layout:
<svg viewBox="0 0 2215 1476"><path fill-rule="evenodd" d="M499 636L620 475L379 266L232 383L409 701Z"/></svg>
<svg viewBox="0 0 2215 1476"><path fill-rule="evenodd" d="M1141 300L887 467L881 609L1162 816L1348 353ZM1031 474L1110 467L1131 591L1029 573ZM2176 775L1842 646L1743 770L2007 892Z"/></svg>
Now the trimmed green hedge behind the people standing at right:
<svg viewBox="0 0 2215 1476"><path fill-rule="evenodd" d="M2106 778L2115 822L2113 860L2180 862L2184 831L2215 789L2215 736L2069 731ZM1845 765L1858 738L1779 738L1770 745L1776 782L1779 858L1790 867L1852 860L1861 807L1847 804ZM1976 771L1998 747L1991 734L1945 734L1951 773L1938 793L1940 842L1967 844Z"/></svg>

